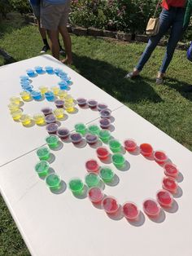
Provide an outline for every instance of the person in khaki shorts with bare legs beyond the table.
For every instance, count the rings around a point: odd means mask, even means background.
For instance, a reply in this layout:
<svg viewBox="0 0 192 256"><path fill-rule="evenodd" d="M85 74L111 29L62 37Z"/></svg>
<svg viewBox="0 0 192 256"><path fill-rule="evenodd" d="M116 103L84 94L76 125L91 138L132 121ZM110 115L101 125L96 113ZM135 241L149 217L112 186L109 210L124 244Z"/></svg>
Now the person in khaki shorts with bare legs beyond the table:
<svg viewBox="0 0 192 256"><path fill-rule="evenodd" d="M68 13L70 0L41 0L41 27L50 38L52 55L59 60L58 31L61 33L66 51L65 64L72 64L72 42L68 33Z"/></svg>

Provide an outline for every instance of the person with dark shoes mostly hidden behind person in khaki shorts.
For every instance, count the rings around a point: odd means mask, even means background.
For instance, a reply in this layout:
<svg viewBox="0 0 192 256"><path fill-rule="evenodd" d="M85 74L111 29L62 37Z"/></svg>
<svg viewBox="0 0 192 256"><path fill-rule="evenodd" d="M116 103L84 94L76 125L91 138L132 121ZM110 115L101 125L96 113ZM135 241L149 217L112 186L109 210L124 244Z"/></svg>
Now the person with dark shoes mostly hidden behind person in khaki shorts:
<svg viewBox="0 0 192 256"><path fill-rule="evenodd" d="M32 10L33 10L33 14L37 19L39 33L41 34L42 42L44 44L44 46L42 47L41 53L45 53L46 51L50 50L50 46L46 39L46 29L41 28L41 25L40 25L41 0L28 0L28 2L30 3L30 6L32 7ZM60 54L64 53L63 48L60 45L60 42L59 42L59 52Z"/></svg>

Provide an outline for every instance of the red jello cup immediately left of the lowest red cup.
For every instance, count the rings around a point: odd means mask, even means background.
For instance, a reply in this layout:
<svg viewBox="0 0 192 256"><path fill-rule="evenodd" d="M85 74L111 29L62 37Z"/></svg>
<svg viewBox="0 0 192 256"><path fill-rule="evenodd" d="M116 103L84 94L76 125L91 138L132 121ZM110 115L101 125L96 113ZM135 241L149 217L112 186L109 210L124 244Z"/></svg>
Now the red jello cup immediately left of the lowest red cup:
<svg viewBox="0 0 192 256"><path fill-rule="evenodd" d="M107 214L116 214L117 210L119 210L120 207L118 201L113 196L104 197L102 201L102 206L103 210L105 210Z"/></svg>

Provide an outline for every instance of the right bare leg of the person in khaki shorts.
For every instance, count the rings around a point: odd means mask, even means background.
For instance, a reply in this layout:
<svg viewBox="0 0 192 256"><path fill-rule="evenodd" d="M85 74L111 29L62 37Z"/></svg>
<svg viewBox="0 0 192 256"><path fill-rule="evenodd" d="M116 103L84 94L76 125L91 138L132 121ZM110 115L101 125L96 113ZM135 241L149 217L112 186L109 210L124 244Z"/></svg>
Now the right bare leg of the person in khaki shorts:
<svg viewBox="0 0 192 256"><path fill-rule="evenodd" d="M66 51L66 59L62 60L63 63L72 64L72 41L68 33L67 27L59 26L59 32L63 38L63 44Z"/></svg>

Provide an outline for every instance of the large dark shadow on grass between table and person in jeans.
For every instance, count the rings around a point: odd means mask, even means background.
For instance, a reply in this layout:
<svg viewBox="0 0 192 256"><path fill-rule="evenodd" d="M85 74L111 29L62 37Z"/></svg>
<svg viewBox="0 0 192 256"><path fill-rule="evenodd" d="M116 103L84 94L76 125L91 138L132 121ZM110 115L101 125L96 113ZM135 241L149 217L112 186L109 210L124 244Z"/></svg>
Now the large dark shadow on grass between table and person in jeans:
<svg viewBox="0 0 192 256"><path fill-rule="evenodd" d="M78 72L120 102L137 103L147 100L159 103L162 99L146 78L125 79L126 70L116 68L102 60L73 54L73 64Z"/></svg>

